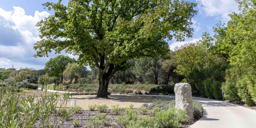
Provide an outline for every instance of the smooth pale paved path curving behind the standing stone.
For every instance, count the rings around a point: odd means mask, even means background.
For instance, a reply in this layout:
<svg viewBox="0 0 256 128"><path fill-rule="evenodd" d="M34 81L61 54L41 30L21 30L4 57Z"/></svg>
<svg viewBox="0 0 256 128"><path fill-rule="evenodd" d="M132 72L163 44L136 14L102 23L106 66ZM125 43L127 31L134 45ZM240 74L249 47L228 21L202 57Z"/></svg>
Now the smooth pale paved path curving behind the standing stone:
<svg viewBox="0 0 256 128"><path fill-rule="evenodd" d="M54 90L48 90L54 91ZM65 93L64 91L54 91ZM112 94L124 96L161 96L169 95L137 95L137 94ZM189 128L256 128L256 111L218 100L193 97L204 106L204 116Z"/></svg>

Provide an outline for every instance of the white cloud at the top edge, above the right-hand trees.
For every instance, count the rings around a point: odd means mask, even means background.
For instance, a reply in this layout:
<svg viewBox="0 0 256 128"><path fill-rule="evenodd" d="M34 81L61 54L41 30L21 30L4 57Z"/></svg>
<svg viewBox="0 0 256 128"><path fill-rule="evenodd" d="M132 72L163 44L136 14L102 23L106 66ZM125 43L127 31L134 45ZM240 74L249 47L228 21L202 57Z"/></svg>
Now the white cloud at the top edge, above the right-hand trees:
<svg viewBox="0 0 256 128"><path fill-rule="evenodd" d="M199 8L204 11L207 16L217 16L224 22L227 22L231 12L238 12L238 4L235 0L196 0Z"/></svg>

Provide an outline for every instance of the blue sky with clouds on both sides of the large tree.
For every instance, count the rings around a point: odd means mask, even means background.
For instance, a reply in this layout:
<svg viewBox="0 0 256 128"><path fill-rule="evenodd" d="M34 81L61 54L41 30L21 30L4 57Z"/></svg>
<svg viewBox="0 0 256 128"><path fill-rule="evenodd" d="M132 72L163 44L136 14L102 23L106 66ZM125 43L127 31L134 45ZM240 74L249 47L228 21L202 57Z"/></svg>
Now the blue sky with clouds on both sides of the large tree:
<svg viewBox="0 0 256 128"><path fill-rule="evenodd" d="M52 14L42 6L45 2L58 0L0 0L0 68L35 68L42 69L44 64L57 56L50 54L49 58L34 58L33 44L40 40L35 24ZM199 40L206 30L213 34L212 27L219 21L226 23L230 12L238 12L234 0L187 0L197 2L198 14L192 19L194 35L184 42L170 41L170 49L188 42ZM63 0L67 3L68 0ZM72 58L70 54L62 53Z"/></svg>

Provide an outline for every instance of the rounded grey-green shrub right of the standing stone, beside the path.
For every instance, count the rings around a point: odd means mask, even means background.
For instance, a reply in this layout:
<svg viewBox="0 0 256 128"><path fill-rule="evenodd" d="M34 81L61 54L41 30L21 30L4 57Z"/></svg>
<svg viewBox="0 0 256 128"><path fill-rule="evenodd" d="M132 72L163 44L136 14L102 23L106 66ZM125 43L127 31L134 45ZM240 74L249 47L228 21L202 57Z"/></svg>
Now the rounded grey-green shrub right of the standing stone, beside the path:
<svg viewBox="0 0 256 128"><path fill-rule="evenodd" d="M204 107L198 101L193 101L193 115L195 119L200 119L204 114Z"/></svg>

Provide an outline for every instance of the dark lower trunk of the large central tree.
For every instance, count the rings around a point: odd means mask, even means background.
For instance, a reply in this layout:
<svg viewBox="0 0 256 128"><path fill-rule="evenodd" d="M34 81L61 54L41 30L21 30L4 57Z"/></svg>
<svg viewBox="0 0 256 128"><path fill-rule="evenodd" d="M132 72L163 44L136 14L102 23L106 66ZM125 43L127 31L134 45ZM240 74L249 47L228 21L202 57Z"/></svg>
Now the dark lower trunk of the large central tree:
<svg viewBox="0 0 256 128"><path fill-rule="evenodd" d="M109 79L106 77L100 78L99 88L98 88L98 98L108 98L108 83Z"/></svg>

